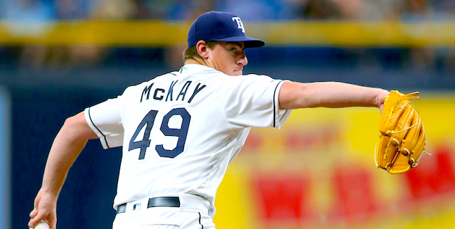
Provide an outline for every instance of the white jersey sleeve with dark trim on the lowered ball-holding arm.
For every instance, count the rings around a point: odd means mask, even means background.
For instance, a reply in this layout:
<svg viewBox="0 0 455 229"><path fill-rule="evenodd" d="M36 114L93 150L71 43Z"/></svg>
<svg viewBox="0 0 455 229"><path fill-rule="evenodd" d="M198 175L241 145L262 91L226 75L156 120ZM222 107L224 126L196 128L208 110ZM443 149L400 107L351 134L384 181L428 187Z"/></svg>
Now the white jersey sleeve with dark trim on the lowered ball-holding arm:
<svg viewBox="0 0 455 229"><path fill-rule="evenodd" d="M121 147L124 129L120 111L121 96L106 100L85 109L85 119L98 137L104 149Z"/></svg>

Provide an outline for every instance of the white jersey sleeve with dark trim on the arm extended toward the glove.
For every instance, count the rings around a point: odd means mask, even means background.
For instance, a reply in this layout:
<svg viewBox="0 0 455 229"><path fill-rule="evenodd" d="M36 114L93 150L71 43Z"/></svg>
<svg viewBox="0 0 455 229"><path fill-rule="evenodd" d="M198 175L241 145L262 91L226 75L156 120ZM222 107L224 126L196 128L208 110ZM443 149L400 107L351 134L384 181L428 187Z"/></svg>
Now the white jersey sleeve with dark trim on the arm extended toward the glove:
<svg viewBox="0 0 455 229"><path fill-rule="evenodd" d="M267 75L244 75L232 80L225 93L225 115L233 127L275 127L279 129L291 110L279 110L279 90L287 80Z"/></svg>

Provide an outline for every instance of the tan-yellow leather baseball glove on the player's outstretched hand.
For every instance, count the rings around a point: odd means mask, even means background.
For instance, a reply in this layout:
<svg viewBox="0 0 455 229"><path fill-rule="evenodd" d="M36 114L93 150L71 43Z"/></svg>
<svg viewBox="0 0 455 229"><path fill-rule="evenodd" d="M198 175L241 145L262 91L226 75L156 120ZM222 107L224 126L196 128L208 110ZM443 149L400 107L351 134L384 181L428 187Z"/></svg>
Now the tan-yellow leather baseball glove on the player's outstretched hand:
<svg viewBox="0 0 455 229"><path fill-rule="evenodd" d="M419 164L427 136L419 113L409 100L419 100L419 92L407 95L392 90L385 98L376 144L376 166L390 174L410 171Z"/></svg>

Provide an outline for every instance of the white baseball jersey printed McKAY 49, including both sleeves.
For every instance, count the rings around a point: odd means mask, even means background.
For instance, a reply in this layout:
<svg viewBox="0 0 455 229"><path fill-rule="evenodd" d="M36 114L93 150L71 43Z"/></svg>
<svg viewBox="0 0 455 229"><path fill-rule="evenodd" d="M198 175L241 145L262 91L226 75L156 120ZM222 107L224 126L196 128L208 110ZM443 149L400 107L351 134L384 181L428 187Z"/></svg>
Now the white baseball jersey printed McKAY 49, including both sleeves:
<svg viewBox="0 0 455 229"><path fill-rule="evenodd" d="M114 208L186 193L208 199L213 217L217 188L250 127L279 128L290 115L278 107L283 82L191 64L87 108L102 146L123 146Z"/></svg>

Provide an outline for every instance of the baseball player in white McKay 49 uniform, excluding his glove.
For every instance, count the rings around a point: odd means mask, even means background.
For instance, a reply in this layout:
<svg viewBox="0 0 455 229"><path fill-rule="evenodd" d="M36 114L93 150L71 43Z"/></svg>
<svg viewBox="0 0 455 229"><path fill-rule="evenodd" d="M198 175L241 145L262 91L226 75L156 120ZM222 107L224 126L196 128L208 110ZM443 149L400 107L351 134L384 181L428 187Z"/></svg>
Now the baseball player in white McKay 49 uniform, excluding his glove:
<svg viewBox="0 0 455 229"><path fill-rule="evenodd" d="M300 83L242 75L245 36L227 12L199 16L188 31L185 64L127 87L69 117L58 132L28 223L55 228L65 177L88 139L122 148L113 228L215 228L215 194L250 127L280 128L292 109L381 107L387 90L341 82Z"/></svg>

